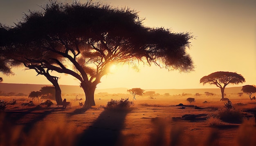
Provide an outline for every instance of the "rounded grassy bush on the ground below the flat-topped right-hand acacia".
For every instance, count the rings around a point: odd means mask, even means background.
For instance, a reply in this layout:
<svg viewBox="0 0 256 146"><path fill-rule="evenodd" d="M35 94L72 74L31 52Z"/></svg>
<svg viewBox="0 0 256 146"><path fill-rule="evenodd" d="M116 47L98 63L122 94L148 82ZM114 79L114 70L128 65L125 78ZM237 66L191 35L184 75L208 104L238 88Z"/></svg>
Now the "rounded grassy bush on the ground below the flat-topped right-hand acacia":
<svg viewBox="0 0 256 146"><path fill-rule="evenodd" d="M234 124L240 124L243 122L243 114L235 109L219 111L218 115L223 122Z"/></svg>

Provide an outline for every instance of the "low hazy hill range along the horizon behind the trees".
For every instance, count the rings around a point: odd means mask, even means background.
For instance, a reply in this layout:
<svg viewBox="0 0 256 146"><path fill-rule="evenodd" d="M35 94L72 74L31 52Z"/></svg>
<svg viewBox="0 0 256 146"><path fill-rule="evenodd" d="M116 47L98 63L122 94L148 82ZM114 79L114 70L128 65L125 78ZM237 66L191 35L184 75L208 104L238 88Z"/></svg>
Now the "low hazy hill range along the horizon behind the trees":
<svg viewBox="0 0 256 146"><path fill-rule="evenodd" d="M39 91L43 86L51 86L51 85L42 85L42 84L9 84L9 83L0 83L0 91L5 93L23 93L29 94L31 91ZM63 94L84 94L83 89L79 86L70 86L70 85L60 85L61 91ZM225 88L226 94L231 93L239 93L241 92L242 87L230 87ZM108 88L108 89L97 89L95 94L97 93L127 93L128 88ZM215 94L220 94L220 88L200 88L200 89L145 89L145 91L155 91L155 93L164 94L169 93L170 95L178 95L182 93L204 93L204 92L211 92Z"/></svg>

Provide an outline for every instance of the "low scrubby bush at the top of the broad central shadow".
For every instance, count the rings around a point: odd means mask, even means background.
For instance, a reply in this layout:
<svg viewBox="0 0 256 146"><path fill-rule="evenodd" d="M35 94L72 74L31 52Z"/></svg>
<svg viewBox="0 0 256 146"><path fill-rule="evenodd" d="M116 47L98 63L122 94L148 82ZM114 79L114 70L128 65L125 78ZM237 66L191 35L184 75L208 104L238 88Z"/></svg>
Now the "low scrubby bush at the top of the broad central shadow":
<svg viewBox="0 0 256 146"><path fill-rule="evenodd" d="M121 100L111 99L110 102L108 102L106 108L107 109L129 108L132 104L133 102L130 102L129 98L121 99Z"/></svg>

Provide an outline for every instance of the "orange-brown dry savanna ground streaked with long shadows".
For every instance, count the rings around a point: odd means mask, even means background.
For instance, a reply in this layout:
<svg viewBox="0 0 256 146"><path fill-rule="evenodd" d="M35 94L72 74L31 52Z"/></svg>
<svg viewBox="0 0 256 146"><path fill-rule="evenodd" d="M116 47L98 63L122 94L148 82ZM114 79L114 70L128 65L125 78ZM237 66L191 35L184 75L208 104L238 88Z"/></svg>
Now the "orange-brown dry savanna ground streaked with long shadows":
<svg viewBox="0 0 256 146"><path fill-rule="evenodd" d="M156 95L136 96L129 108L109 110L105 107L110 99L131 101L131 95L98 93L97 106L86 111L77 110L75 94L63 95L71 102L65 109L56 103L37 106L36 100L35 106L21 106L30 99L1 96L7 103L15 99L16 104L1 112L0 146L255 146L256 101L246 95L227 96L234 109L227 110L219 95ZM188 97L195 97L193 106ZM180 103L184 106L176 106ZM220 120L232 114L228 122Z"/></svg>

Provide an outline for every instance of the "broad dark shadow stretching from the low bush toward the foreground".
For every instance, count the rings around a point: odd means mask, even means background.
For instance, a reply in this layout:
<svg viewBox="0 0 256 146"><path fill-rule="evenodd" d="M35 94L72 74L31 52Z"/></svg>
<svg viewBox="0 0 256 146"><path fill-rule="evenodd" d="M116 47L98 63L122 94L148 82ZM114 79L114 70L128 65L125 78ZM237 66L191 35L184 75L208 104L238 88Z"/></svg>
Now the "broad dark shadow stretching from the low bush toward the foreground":
<svg viewBox="0 0 256 146"><path fill-rule="evenodd" d="M128 110L105 110L87 128L78 140L77 146L115 146L124 128Z"/></svg>

